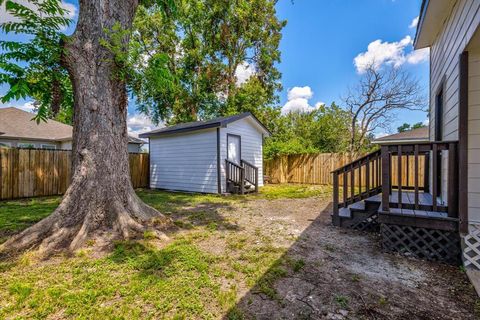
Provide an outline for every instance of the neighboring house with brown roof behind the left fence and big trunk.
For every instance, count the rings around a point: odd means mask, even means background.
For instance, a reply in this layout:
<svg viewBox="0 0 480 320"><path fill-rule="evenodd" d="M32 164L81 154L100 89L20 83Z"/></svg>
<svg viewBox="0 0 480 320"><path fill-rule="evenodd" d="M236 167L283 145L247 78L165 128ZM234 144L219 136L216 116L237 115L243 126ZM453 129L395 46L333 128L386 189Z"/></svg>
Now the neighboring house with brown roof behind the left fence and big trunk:
<svg viewBox="0 0 480 320"><path fill-rule="evenodd" d="M0 108L0 147L72 149L72 126L48 120L37 124L33 114L17 108ZM138 153L145 142L128 137L128 151Z"/></svg>

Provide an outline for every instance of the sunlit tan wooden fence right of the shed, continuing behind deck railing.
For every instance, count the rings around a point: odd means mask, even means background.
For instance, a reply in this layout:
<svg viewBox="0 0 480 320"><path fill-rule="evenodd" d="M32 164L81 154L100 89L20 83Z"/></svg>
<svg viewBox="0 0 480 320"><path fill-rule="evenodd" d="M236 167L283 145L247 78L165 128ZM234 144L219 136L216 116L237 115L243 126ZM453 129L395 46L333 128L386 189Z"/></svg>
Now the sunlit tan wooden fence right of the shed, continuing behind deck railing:
<svg viewBox="0 0 480 320"><path fill-rule="evenodd" d="M420 186L424 187L425 161L424 155L419 156ZM271 160L265 160L265 175L270 183L305 183L305 184L333 184L332 171L349 164L350 157L340 153L318 153L301 155L284 155ZM392 185L398 185L397 156L392 156ZM408 162L408 165L407 165ZM413 186L414 183L414 158L402 156L402 185ZM428 164L427 164L428 165ZM373 171L370 171L373 173ZM365 186L366 170L362 171L359 179L359 170L355 170L354 184L358 187L359 181ZM343 185L343 179L339 181Z"/></svg>

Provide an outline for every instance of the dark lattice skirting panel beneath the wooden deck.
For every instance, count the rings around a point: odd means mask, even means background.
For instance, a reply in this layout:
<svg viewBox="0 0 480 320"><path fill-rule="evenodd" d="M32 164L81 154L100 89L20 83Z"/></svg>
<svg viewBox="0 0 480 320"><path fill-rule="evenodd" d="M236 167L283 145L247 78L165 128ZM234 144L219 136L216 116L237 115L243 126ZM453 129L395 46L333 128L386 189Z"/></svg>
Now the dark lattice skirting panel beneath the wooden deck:
<svg viewBox="0 0 480 320"><path fill-rule="evenodd" d="M455 232L382 223L380 233L386 252L460 264L460 237Z"/></svg>

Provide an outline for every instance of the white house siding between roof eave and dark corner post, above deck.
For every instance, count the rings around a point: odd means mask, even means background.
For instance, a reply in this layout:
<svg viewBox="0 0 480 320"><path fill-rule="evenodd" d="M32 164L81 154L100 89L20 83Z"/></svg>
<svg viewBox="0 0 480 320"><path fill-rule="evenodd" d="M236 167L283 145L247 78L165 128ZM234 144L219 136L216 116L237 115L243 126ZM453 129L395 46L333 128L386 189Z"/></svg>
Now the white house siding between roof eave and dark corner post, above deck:
<svg viewBox="0 0 480 320"><path fill-rule="evenodd" d="M443 140L458 140L459 56L480 23L480 1L458 0L443 29L430 48L430 139L435 133L435 98L444 88ZM443 83L442 80L445 80ZM447 162L443 159L442 184L447 185ZM472 184L472 183L469 183ZM442 198L447 199L443 189ZM480 218L480 215L478 216Z"/></svg>

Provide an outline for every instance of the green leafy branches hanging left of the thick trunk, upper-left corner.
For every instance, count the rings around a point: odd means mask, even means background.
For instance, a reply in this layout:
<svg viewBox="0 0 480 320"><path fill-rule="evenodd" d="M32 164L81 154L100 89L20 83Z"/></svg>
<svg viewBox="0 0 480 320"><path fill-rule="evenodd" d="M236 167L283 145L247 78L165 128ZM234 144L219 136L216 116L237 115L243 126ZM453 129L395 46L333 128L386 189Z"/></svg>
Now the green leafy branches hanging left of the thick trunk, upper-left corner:
<svg viewBox="0 0 480 320"><path fill-rule="evenodd" d="M0 1L2 3L3 1ZM28 34L29 41L1 40L0 84L8 89L3 103L32 97L37 121L57 117L71 122L73 91L62 66L65 35L72 22L58 0L31 1L35 8L5 1L5 9L16 20L0 25L6 34Z"/></svg>

